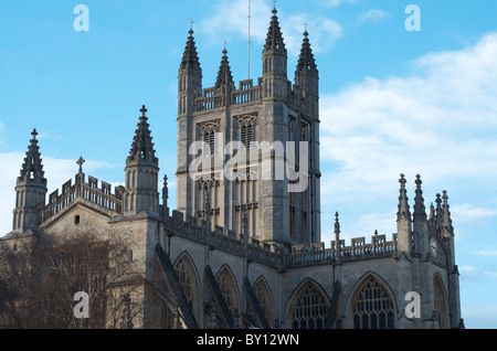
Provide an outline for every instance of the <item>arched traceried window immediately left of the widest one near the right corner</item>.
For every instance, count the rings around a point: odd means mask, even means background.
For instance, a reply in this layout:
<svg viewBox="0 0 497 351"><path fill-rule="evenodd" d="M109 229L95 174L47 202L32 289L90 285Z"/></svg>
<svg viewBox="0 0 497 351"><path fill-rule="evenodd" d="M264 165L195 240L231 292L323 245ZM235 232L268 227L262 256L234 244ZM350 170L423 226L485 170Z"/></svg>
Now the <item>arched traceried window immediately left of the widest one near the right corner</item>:
<svg viewBox="0 0 497 351"><path fill-rule="evenodd" d="M329 305L321 290L308 281L298 290L289 318L294 329L324 329Z"/></svg>

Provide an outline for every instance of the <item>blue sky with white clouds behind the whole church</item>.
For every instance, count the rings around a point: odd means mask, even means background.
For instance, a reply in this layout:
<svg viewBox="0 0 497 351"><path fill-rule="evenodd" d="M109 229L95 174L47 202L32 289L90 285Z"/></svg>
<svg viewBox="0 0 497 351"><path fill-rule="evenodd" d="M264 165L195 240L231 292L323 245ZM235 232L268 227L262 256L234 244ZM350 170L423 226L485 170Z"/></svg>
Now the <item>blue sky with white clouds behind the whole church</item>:
<svg viewBox="0 0 497 351"><path fill-rule="evenodd" d="M76 4L89 31L76 32ZM409 32L408 4L421 10ZM497 1L282 0L278 17L297 63L304 21L320 73L322 240L334 213L342 236L396 231L399 176L426 205L447 190L463 318L497 328ZM40 132L49 192L77 172L113 184L147 105L173 206L177 74L193 21L203 86L214 85L223 40L235 81L247 77L246 0L1 1L0 235L11 230L15 177ZM252 0L251 78L272 2Z"/></svg>

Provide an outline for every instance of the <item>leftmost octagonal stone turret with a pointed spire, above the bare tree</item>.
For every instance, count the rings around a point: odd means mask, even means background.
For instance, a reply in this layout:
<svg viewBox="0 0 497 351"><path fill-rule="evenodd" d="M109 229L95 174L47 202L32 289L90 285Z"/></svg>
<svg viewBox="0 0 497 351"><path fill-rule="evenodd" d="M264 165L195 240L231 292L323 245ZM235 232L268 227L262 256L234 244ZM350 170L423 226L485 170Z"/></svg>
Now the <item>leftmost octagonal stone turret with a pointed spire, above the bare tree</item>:
<svg viewBox="0 0 497 351"><path fill-rule="evenodd" d="M28 230L38 231L38 205L44 205L46 195L46 179L44 178L40 147L36 140L36 129L31 134L21 176L15 184L15 209L13 210L12 233L23 233Z"/></svg>

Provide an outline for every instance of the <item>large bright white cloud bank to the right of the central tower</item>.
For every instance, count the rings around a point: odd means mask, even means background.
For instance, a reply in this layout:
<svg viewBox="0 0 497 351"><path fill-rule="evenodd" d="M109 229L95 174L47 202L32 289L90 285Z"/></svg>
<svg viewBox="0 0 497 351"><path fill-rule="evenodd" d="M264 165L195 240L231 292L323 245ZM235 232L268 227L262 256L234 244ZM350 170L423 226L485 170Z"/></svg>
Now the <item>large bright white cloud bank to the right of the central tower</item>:
<svg viewBox="0 0 497 351"><path fill-rule="evenodd" d="M321 96L321 159L332 164L324 193L338 201L392 193L401 172L443 187L495 180L495 57L497 33L465 50L427 54L411 63L411 76L368 77Z"/></svg>

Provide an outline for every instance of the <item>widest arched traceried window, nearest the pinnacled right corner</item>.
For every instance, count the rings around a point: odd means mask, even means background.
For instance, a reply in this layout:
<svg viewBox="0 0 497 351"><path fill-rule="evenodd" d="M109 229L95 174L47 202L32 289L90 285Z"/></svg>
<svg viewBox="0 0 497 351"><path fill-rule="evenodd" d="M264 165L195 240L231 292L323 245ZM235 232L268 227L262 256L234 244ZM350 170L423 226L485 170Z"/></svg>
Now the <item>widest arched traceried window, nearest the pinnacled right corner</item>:
<svg viewBox="0 0 497 351"><path fill-rule="evenodd" d="M393 329L393 301L387 288L373 276L368 276L352 299L355 329Z"/></svg>

